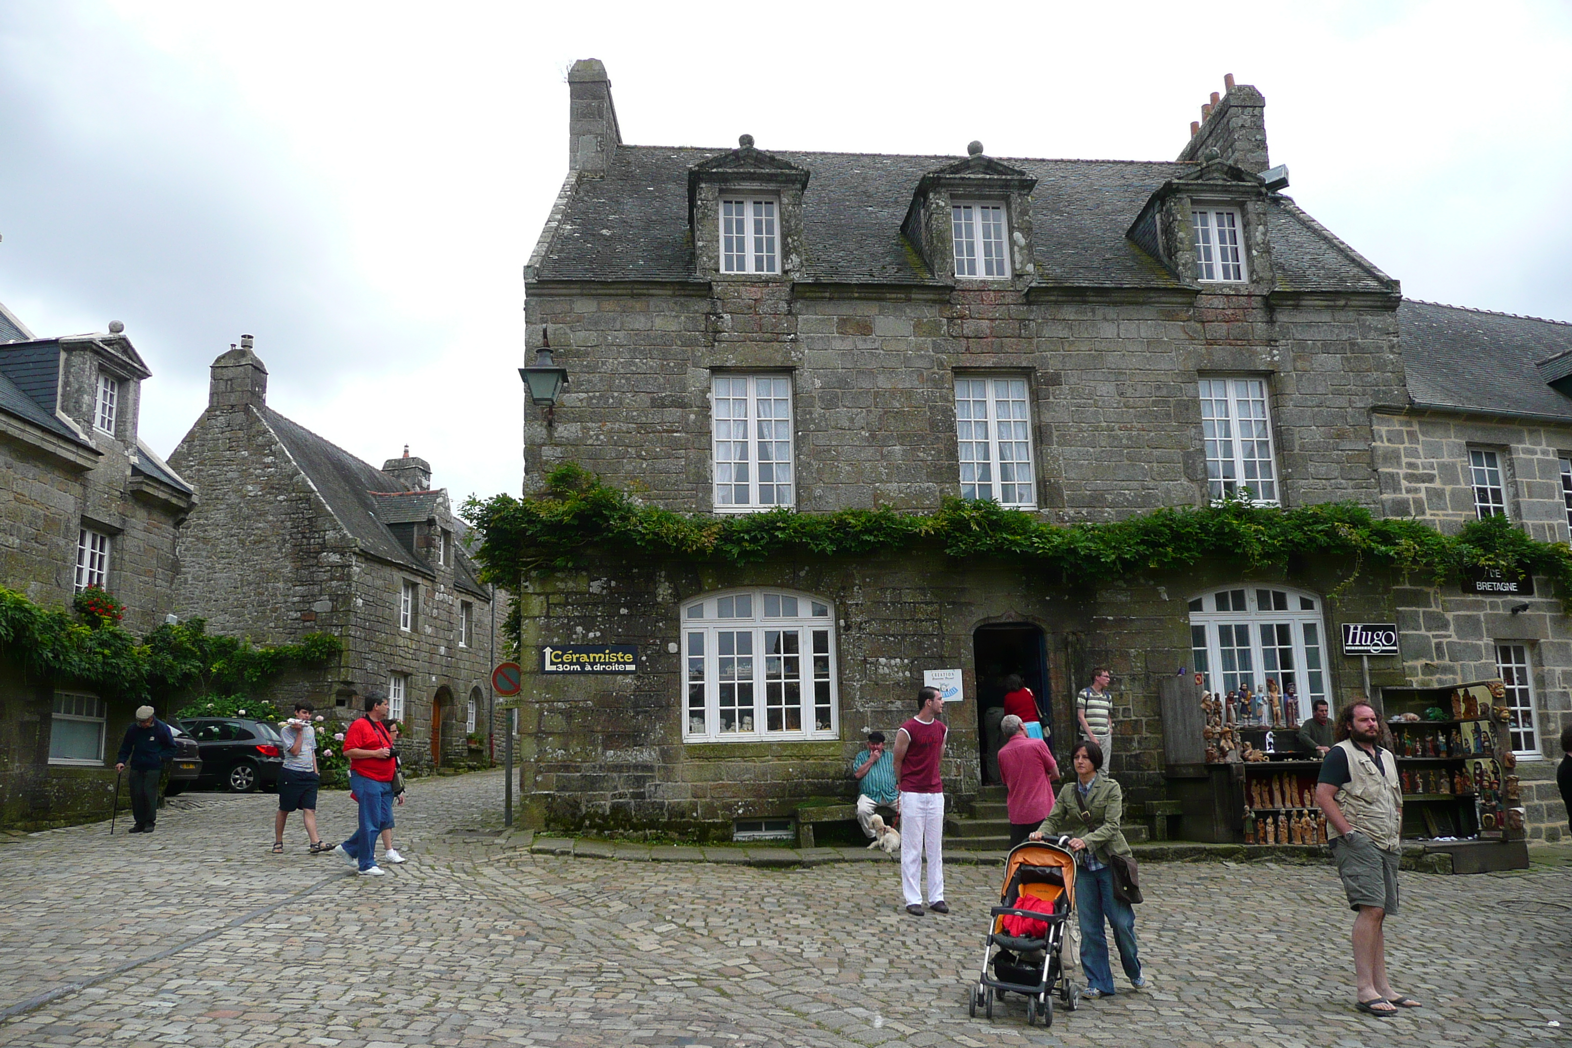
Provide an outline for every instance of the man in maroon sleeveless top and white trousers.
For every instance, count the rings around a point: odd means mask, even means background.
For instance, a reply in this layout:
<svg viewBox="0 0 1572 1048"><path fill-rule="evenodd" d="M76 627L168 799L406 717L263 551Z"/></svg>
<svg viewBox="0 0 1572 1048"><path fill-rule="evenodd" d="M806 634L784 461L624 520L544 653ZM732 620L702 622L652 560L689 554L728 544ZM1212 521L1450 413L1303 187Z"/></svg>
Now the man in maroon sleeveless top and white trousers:
<svg viewBox="0 0 1572 1048"><path fill-rule="evenodd" d="M916 716L894 734L894 778L901 787L901 891L905 911L923 916L923 856L927 856L927 908L949 913L945 903L945 786L938 762L948 727L938 721L945 699L938 688L916 693Z"/></svg>

